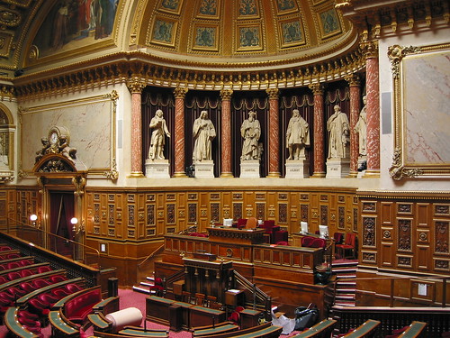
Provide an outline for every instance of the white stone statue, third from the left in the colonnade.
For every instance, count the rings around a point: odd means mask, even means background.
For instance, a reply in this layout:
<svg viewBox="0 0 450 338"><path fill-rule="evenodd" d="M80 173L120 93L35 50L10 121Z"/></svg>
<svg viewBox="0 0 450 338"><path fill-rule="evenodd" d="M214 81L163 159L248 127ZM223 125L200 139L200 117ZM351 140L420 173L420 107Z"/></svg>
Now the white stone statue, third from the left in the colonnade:
<svg viewBox="0 0 450 338"><path fill-rule="evenodd" d="M261 136L261 125L257 121L257 113L248 112L247 120L244 120L240 127L240 134L244 138L240 160L260 160L262 146L258 141Z"/></svg>

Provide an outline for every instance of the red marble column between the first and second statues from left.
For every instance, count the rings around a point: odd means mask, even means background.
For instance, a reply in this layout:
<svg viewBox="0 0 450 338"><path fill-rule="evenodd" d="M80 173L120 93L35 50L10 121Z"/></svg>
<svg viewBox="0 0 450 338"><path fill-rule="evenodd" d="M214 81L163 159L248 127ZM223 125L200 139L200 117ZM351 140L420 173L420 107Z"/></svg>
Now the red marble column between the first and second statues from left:
<svg viewBox="0 0 450 338"><path fill-rule="evenodd" d="M184 172L184 97L187 88L175 88L175 172L174 178L186 178Z"/></svg>

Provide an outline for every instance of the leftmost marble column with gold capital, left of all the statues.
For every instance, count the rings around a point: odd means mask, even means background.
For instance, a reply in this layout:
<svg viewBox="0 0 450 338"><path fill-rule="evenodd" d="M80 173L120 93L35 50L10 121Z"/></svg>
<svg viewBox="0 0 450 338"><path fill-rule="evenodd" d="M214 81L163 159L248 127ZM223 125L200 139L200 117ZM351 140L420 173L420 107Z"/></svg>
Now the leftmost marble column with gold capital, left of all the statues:
<svg viewBox="0 0 450 338"><path fill-rule="evenodd" d="M132 78L127 83L131 93L131 173L132 178L143 178L142 174L142 89L146 82Z"/></svg>

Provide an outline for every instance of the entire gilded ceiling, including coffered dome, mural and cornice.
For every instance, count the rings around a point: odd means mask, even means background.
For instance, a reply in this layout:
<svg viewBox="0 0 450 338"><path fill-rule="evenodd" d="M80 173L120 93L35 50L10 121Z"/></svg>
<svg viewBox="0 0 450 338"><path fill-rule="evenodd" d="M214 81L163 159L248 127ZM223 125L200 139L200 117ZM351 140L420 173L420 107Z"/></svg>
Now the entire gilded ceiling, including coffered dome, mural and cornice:
<svg viewBox="0 0 450 338"><path fill-rule="evenodd" d="M0 0L0 80L18 96L310 86L363 69L367 30L442 17L446 0Z"/></svg>

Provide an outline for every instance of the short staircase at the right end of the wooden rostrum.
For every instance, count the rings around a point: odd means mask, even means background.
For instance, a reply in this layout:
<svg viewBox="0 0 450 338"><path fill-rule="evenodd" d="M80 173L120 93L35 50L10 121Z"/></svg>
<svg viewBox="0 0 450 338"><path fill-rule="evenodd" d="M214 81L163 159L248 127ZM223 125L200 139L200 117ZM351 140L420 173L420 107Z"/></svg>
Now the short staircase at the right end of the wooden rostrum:
<svg viewBox="0 0 450 338"><path fill-rule="evenodd" d="M333 261L332 272L336 275L335 305L355 306L357 260Z"/></svg>

